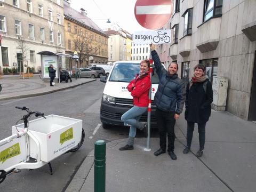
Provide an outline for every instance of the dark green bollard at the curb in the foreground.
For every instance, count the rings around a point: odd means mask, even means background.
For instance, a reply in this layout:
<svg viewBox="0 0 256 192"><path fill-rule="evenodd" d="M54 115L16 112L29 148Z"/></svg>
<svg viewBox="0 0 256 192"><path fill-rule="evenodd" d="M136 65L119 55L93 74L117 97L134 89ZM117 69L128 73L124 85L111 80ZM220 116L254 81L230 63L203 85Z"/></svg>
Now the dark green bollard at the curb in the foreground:
<svg viewBox="0 0 256 192"><path fill-rule="evenodd" d="M105 192L106 188L106 142L94 142L94 192Z"/></svg>

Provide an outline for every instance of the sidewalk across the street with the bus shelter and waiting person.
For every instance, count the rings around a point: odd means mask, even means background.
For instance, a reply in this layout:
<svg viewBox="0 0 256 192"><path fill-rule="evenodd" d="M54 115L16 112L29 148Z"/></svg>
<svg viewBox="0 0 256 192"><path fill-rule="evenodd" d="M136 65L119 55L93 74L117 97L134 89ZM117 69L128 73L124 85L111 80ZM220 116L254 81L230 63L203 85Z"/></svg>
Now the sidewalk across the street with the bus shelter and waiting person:
<svg viewBox="0 0 256 192"><path fill-rule="evenodd" d="M0 100L34 97L96 81L92 78L72 78L71 83L70 81L57 83L56 81L55 86L50 86L50 83L43 82L39 75L26 79L20 78L19 75L3 75L2 77L0 79L2 85Z"/></svg>

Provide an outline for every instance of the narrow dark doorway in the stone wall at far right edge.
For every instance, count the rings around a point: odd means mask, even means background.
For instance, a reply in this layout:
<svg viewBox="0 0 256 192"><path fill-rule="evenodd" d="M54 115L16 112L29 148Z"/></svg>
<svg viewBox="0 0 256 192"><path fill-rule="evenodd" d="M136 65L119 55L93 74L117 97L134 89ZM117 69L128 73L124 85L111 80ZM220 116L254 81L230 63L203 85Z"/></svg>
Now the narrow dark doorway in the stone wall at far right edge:
<svg viewBox="0 0 256 192"><path fill-rule="evenodd" d="M249 121L256 121L256 51L255 51L255 54L254 54L252 90L251 90L251 99L250 99L248 120Z"/></svg>

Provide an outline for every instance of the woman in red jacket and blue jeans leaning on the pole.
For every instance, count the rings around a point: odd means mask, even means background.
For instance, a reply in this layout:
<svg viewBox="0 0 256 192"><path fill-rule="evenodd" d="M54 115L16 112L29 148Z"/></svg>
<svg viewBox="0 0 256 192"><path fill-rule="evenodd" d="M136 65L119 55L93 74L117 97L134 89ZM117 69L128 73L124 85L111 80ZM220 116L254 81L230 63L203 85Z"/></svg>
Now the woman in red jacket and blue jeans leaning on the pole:
<svg viewBox="0 0 256 192"><path fill-rule="evenodd" d="M131 92L133 97L133 107L122 115L121 120L131 126L127 144L119 148L119 150L132 150L136 128L140 130L147 129L147 123L139 122L139 119L148 108L148 91L151 86L148 74L149 68L149 60L142 60L140 62L140 73L127 86L128 91Z"/></svg>

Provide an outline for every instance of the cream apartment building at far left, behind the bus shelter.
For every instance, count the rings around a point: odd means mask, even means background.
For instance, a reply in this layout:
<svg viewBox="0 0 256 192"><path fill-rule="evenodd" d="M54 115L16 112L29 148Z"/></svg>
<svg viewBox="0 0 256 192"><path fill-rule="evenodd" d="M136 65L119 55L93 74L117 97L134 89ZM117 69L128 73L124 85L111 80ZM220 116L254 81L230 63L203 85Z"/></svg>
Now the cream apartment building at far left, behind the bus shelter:
<svg viewBox="0 0 256 192"><path fill-rule="evenodd" d="M26 60L37 71L41 68L38 52L65 53L63 23L63 0L1 0L2 69L20 68L19 61Z"/></svg>

